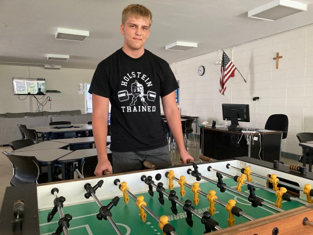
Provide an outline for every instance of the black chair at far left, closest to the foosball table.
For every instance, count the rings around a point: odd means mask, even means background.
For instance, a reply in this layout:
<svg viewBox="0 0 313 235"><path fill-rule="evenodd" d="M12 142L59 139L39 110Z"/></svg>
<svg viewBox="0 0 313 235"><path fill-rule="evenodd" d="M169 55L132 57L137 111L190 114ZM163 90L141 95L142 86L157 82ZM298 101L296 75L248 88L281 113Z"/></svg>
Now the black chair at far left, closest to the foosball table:
<svg viewBox="0 0 313 235"><path fill-rule="evenodd" d="M10 181L12 186L47 182L45 175L41 175L41 168L34 156L19 156L6 151L3 154L9 158L13 166L13 177Z"/></svg>

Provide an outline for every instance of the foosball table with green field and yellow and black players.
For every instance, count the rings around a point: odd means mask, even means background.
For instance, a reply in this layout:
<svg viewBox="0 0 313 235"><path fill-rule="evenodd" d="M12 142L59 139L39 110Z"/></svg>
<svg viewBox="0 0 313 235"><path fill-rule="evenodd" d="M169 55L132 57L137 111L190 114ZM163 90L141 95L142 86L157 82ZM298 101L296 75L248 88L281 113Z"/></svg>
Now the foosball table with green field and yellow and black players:
<svg viewBox="0 0 313 235"><path fill-rule="evenodd" d="M0 234L313 234L312 183L301 167L240 157L12 186Z"/></svg>

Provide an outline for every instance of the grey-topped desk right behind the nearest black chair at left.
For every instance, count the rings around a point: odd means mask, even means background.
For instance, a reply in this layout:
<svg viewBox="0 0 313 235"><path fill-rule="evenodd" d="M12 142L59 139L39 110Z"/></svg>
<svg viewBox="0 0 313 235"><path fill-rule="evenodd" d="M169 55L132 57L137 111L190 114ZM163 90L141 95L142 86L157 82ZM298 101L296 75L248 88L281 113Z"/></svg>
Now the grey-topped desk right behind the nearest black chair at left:
<svg viewBox="0 0 313 235"><path fill-rule="evenodd" d="M55 164L59 158L72 152L73 151L71 150L65 149L45 149L45 150L20 151L14 152L14 154L21 156L34 156L38 160L38 162L47 165L48 182L51 182L53 175L53 164Z"/></svg>

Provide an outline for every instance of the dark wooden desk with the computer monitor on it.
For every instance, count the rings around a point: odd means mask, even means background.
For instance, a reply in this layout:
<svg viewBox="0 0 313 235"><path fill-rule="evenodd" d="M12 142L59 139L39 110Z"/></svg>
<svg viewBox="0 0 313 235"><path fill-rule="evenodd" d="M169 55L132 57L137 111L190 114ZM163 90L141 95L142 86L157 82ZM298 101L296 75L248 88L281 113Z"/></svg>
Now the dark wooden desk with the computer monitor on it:
<svg viewBox="0 0 313 235"><path fill-rule="evenodd" d="M242 132L205 127L203 128L201 153L217 160L248 156L261 158L268 162L279 161L281 138L282 131L254 133L250 137L251 145L247 145L247 140Z"/></svg>

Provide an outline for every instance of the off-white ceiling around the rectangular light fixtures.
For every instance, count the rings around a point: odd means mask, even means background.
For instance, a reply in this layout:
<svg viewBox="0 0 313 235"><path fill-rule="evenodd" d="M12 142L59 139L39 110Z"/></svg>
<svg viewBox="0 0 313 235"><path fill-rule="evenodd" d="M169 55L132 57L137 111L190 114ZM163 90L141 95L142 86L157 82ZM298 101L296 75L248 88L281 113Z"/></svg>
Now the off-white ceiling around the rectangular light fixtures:
<svg viewBox="0 0 313 235"><path fill-rule="evenodd" d="M313 1L307 11L277 20L247 17L247 11L270 0L138 0L153 14L145 49L168 63L313 24ZM0 64L95 69L123 45L121 14L128 0L0 0ZM83 42L56 40L58 27L88 30ZM197 42L185 52L166 51L174 41ZM47 54L69 55L48 61ZM218 59L218 58L217 58Z"/></svg>

